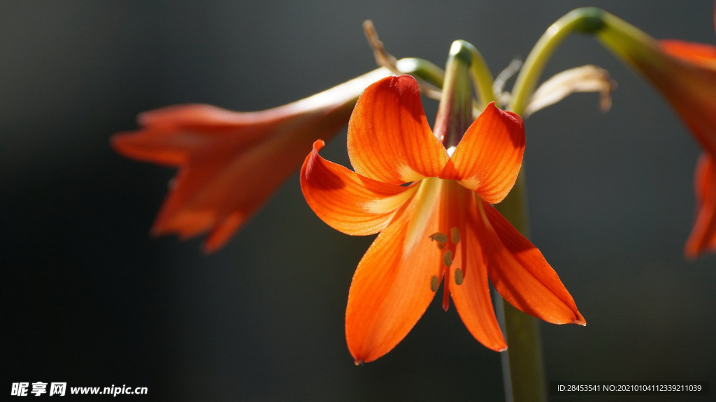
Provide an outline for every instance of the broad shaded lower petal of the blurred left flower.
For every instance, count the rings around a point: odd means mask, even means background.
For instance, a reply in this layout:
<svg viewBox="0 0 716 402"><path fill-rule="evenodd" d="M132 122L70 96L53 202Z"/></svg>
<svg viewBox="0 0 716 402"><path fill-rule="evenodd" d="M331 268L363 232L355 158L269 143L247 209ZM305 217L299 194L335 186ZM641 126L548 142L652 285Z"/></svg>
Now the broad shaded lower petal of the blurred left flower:
<svg viewBox="0 0 716 402"><path fill-rule="evenodd" d="M153 233L176 232L187 238L208 230L204 250L226 242L301 166L313 139L304 135L308 128L294 129L265 136L250 147L215 139L193 152L173 180ZM323 127L310 133L321 132L329 135Z"/></svg>

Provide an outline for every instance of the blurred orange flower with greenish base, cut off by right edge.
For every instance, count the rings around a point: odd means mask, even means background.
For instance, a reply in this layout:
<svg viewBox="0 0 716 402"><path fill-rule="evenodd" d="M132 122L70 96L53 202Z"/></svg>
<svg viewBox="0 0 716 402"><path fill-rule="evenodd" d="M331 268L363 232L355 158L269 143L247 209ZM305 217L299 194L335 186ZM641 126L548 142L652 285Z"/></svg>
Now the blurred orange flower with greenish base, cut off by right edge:
<svg viewBox="0 0 716 402"><path fill-rule="evenodd" d="M656 41L609 15L597 37L659 89L705 149L696 172L696 220L684 254L696 258L716 251L716 175L710 162L716 155L716 46Z"/></svg>

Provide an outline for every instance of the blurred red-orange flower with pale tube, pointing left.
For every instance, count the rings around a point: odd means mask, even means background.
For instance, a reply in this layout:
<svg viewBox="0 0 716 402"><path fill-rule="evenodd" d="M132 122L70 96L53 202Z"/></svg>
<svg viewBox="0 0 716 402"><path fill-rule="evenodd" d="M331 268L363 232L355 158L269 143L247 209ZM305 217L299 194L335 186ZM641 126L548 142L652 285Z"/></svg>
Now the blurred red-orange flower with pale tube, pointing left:
<svg viewBox="0 0 716 402"><path fill-rule="evenodd" d="M211 253L253 215L304 160L317 138L347 123L358 95L390 74L358 77L298 102L262 112L187 104L145 112L136 132L112 136L120 154L179 167L155 220L155 235L209 232Z"/></svg>

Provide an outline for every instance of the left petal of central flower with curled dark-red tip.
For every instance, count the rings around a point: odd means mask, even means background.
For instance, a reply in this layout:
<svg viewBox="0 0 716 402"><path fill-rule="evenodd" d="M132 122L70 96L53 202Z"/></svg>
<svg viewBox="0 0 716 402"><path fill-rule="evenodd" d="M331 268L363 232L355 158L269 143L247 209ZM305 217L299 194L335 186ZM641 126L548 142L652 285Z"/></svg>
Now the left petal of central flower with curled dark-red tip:
<svg viewBox="0 0 716 402"><path fill-rule="evenodd" d="M301 167L301 191L321 220L348 235L372 235L383 230L395 211L415 193L414 187L389 185L324 160L314 142Z"/></svg>

